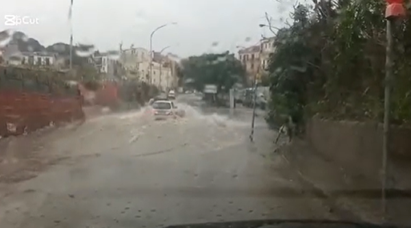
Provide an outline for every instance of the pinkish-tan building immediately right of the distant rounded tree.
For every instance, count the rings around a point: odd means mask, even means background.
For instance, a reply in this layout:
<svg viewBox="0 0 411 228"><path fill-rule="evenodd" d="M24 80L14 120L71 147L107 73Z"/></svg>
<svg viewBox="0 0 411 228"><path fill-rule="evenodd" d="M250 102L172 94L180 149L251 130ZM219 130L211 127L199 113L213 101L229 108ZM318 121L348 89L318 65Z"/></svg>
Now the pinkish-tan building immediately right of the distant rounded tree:
<svg viewBox="0 0 411 228"><path fill-rule="evenodd" d="M245 67L247 84L252 85L253 79L260 68L260 45L254 45L238 51L238 58Z"/></svg>

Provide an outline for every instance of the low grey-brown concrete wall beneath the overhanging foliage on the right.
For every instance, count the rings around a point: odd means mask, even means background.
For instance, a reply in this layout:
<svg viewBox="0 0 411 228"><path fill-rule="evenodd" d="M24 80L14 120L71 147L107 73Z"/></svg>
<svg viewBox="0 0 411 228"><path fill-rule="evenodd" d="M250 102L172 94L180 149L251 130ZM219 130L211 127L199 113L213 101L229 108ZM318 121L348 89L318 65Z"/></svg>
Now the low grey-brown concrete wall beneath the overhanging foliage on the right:
<svg viewBox="0 0 411 228"><path fill-rule="evenodd" d="M379 181L382 170L382 125L312 118L306 137L323 157L347 173ZM389 179L395 188L411 186L411 129L391 128Z"/></svg>

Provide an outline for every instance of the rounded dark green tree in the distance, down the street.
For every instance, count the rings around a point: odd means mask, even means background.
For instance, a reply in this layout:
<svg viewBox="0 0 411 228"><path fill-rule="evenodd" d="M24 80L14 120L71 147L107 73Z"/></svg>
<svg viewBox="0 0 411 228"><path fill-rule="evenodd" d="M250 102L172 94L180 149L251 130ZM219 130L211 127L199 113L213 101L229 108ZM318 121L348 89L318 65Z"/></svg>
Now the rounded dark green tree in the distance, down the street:
<svg viewBox="0 0 411 228"><path fill-rule="evenodd" d="M215 84L219 92L228 92L245 75L241 62L228 52L190 56L182 66L186 85L199 91L206 84Z"/></svg>

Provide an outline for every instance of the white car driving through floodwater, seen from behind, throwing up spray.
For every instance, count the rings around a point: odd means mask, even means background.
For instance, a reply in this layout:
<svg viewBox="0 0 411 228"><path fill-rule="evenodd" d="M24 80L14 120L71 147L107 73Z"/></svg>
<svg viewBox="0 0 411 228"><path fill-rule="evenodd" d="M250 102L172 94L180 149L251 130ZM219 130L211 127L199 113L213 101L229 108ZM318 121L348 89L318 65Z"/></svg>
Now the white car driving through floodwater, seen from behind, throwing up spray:
<svg viewBox="0 0 411 228"><path fill-rule="evenodd" d="M151 107L155 120L183 117L186 114L184 110L179 110L173 101L155 101Z"/></svg>

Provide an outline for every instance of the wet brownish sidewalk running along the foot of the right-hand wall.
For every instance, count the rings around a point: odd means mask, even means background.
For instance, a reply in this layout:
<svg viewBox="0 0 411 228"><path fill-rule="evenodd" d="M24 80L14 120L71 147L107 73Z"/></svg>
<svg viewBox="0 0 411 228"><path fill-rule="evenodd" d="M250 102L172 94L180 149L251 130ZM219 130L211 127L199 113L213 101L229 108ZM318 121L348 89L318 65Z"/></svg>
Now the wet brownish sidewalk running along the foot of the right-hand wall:
<svg viewBox="0 0 411 228"><path fill-rule="evenodd" d="M349 210L361 220L384 223L381 201L381 184L361 176L347 175L332 161L315 153L310 145L294 140L280 150L284 158L304 181L321 190L337 207ZM375 174L378 175L378 174ZM411 224L411 198L397 194L387 199L388 223Z"/></svg>

